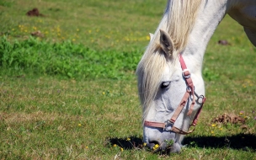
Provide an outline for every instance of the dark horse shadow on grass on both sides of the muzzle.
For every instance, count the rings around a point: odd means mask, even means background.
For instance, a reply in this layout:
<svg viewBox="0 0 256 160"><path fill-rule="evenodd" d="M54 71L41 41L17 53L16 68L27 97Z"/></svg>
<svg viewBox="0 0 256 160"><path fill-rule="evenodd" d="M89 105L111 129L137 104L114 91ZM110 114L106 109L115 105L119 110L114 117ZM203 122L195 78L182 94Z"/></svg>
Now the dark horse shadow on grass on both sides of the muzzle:
<svg viewBox="0 0 256 160"><path fill-rule="evenodd" d="M110 146L119 146L126 150L142 148L141 137L109 138ZM255 134L238 134L233 136L186 136L183 145L200 148L231 148L248 152L256 152Z"/></svg>

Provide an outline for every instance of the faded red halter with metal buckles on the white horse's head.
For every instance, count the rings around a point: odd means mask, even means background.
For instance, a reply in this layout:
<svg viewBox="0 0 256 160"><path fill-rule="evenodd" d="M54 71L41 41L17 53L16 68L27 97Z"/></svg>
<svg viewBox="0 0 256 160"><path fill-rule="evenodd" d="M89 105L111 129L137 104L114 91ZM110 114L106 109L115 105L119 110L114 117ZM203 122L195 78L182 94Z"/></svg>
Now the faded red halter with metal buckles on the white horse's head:
<svg viewBox="0 0 256 160"><path fill-rule="evenodd" d="M183 57L181 56L181 54L179 54L179 62L181 65L181 69L183 72L183 77L184 80L187 84L187 89L186 92L184 93L183 98L181 99L179 106L177 107L177 109L175 110L173 116L171 117L170 120L167 120L164 123L161 122L155 122L155 121L144 121L144 126L149 126L149 127L156 127L156 128L163 128L164 131L173 131L175 133L179 133L182 135L187 135L189 133L192 133L193 131L195 131L195 125L197 124L197 120L199 118L201 109L203 108L203 105L205 103L205 96L200 95L198 96L197 93L195 93L195 86L193 84L191 75L189 70L186 67L186 64L184 62ZM189 97L192 96L193 100L192 103L190 104L190 108L189 108L189 112L188 112L188 116L190 116L193 112L194 106L195 106L195 101L199 104L201 104L200 109L197 111L194 120L192 121L191 125L189 125L189 128L191 126L194 126L194 128L192 130L189 131L182 131L181 129L177 128L174 126L175 121L177 120L177 118L179 117L179 114L181 113L182 109L184 108L185 104L187 103L187 101L189 100ZM197 100L195 100L195 97L197 98ZM170 130L168 130L168 125L173 125L172 128Z"/></svg>

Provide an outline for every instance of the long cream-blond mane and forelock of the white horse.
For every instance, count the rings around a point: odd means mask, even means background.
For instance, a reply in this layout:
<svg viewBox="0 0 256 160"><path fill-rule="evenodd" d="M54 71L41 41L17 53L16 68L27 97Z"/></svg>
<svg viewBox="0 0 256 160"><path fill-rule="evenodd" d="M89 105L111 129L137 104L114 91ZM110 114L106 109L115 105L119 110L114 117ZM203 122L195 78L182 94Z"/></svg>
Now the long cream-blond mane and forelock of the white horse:
<svg viewBox="0 0 256 160"><path fill-rule="evenodd" d="M201 0L168 0L163 19L136 70L139 97L144 111L143 120L145 120L148 109L151 108L152 100L158 91L163 69L166 65L173 64L179 51L184 50L185 45L187 45L200 3ZM162 51L159 44L159 29L166 30L173 40L172 59L166 58L165 54L159 54ZM168 61L171 61L171 63L168 63Z"/></svg>

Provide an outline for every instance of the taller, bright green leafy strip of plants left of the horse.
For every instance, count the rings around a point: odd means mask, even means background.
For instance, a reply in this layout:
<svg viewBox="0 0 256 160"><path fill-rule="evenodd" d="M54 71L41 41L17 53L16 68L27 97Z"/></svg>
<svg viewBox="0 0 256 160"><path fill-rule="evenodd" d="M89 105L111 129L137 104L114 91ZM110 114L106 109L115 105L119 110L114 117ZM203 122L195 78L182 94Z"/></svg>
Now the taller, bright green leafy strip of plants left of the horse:
<svg viewBox="0 0 256 160"><path fill-rule="evenodd" d="M70 40L50 43L29 37L11 43L6 36L0 38L0 67L8 72L122 79L136 70L140 57L139 51L94 51Z"/></svg>

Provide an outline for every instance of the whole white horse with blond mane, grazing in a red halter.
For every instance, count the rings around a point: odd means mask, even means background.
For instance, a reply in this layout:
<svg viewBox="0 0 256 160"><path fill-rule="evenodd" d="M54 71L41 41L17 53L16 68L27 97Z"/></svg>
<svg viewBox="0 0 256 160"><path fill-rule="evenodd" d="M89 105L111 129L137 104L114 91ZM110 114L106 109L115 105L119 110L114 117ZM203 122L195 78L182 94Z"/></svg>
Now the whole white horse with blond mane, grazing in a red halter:
<svg viewBox="0 0 256 160"><path fill-rule="evenodd" d="M179 152L194 131L205 101L205 48L227 13L256 46L256 0L168 0L136 70L143 138L155 151Z"/></svg>

